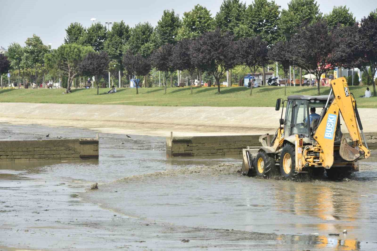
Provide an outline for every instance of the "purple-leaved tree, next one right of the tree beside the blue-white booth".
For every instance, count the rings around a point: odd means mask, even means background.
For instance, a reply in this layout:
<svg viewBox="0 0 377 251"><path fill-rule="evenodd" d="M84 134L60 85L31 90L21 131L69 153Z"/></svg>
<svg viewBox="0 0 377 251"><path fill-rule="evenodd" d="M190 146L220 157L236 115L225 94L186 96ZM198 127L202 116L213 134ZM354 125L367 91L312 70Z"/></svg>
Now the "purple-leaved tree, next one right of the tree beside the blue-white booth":
<svg viewBox="0 0 377 251"><path fill-rule="evenodd" d="M167 88L167 79L172 76L177 69L173 61L173 45L164 44L150 55L150 61L157 70L163 71L165 75L165 94ZM173 87L173 86L172 86Z"/></svg>

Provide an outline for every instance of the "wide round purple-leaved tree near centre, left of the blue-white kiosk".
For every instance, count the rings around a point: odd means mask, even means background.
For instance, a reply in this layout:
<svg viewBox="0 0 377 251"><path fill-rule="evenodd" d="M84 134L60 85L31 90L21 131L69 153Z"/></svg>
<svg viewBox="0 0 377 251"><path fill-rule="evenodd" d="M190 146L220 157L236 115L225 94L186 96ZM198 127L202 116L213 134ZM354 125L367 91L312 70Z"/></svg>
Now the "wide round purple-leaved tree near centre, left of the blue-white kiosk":
<svg viewBox="0 0 377 251"><path fill-rule="evenodd" d="M234 53L236 44L230 32L216 29L195 39L191 45L191 58L199 69L205 69L215 77L220 94L220 78L238 64L240 55Z"/></svg>

